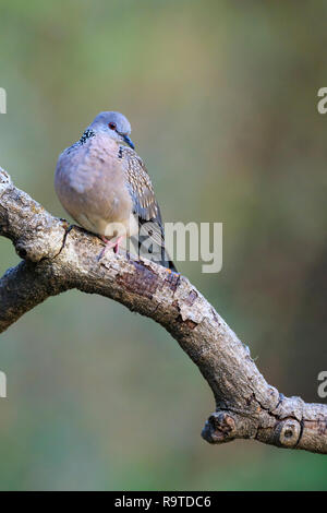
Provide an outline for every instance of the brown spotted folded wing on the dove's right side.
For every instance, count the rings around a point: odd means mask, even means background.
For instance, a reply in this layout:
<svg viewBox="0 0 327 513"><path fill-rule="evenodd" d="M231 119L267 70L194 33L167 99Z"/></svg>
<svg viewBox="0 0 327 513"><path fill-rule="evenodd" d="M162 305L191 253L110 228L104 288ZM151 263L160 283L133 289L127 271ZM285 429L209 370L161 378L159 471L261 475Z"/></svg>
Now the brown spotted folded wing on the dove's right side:
<svg viewBox="0 0 327 513"><path fill-rule="evenodd" d="M160 208L157 203L150 177L137 153L128 146L121 146L119 156L122 159L126 184L133 201L133 213L140 225L150 222L150 238L158 244L164 241L164 226Z"/></svg>

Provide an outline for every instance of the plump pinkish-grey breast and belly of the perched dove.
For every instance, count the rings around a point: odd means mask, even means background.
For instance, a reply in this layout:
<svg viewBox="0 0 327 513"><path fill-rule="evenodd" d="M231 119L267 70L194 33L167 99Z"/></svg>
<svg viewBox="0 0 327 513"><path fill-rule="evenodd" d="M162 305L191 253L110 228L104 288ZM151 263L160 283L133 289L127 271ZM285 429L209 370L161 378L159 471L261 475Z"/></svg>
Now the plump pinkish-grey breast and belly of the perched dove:
<svg viewBox="0 0 327 513"><path fill-rule="evenodd" d="M84 228L105 235L110 223L125 223L132 199L118 152L96 139L59 157L55 187L71 216ZM116 145L117 146L117 145Z"/></svg>

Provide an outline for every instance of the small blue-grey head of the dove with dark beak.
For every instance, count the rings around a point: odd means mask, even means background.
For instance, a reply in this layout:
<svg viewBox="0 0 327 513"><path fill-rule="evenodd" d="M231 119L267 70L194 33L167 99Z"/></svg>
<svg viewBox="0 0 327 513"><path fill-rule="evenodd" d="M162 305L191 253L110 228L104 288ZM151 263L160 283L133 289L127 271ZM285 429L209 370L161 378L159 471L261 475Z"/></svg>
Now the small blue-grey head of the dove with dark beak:
<svg viewBox="0 0 327 513"><path fill-rule="evenodd" d="M95 120L88 127L88 130L95 133L105 132L111 139L118 143L125 143L134 150L133 141L130 139L131 135L131 123L120 112L100 112L97 115Z"/></svg>

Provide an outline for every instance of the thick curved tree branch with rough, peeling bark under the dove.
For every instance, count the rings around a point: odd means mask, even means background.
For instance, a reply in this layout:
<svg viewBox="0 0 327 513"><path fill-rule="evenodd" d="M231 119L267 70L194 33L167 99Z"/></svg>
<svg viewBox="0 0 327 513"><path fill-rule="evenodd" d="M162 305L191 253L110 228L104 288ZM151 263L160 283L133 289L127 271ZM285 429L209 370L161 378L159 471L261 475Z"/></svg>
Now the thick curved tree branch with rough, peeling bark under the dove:
<svg viewBox="0 0 327 513"><path fill-rule="evenodd" d="M250 350L184 276L154 262L108 252L96 236L51 216L0 168L0 235L24 259L0 279L0 332L71 288L99 294L161 324L207 380L216 411L202 436L238 438L327 454L327 405L284 397L259 373Z"/></svg>

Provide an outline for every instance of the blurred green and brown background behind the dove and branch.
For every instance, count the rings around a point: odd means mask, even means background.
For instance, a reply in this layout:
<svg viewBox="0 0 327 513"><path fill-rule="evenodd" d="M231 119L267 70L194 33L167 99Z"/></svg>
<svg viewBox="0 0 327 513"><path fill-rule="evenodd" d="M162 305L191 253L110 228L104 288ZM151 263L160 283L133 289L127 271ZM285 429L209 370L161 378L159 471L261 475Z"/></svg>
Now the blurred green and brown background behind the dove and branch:
<svg viewBox="0 0 327 513"><path fill-rule="evenodd" d="M327 368L325 1L0 3L0 165L58 216L59 153L120 110L165 220L223 223L223 267L180 263L267 381L324 402ZM0 240L1 274L19 262ZM327 488L324 456L210 446L208 385L148 319L76 291L1 337L2 490ZM326 402L326 399L325 399Z"/></svg>

